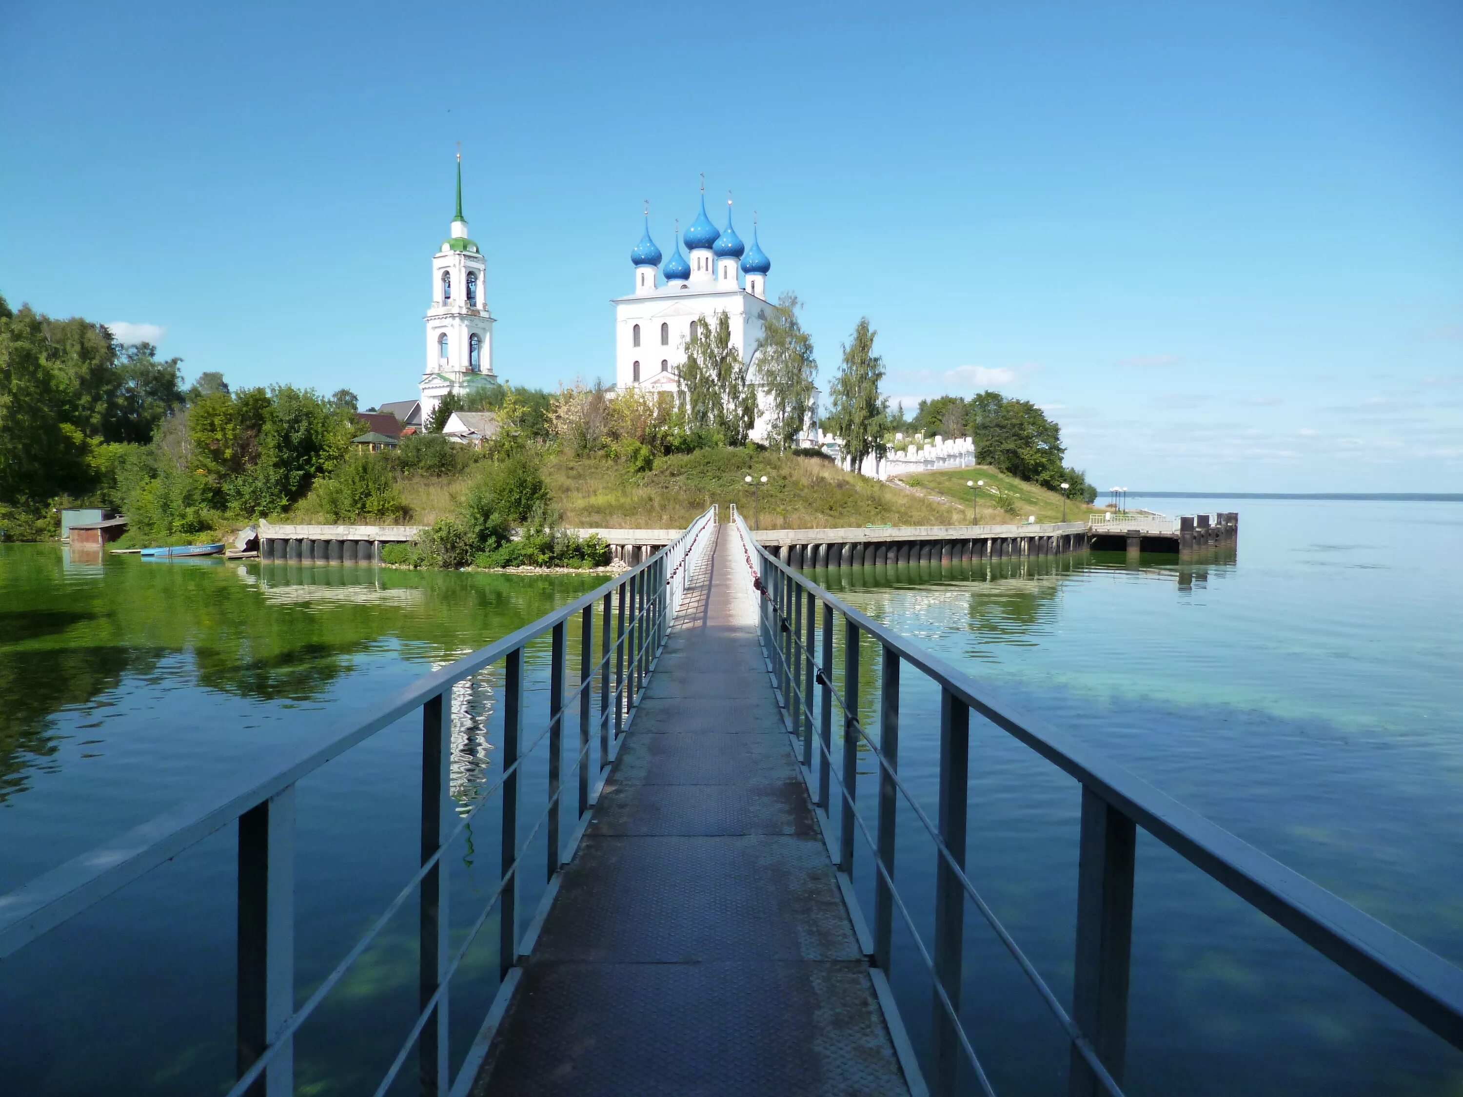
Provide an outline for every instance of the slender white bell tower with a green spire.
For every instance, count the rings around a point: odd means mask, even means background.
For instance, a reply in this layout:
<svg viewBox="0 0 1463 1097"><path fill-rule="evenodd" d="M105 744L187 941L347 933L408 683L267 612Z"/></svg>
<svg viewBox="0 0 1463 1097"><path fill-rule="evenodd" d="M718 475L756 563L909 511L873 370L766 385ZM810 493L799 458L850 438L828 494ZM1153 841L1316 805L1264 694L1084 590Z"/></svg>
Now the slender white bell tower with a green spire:
<svg viewBox="0 0 1463 1097"><path fill-rule="evenodd" d="M427 361L421 373L421 423L430 423L443 396L467 395L493 377L493 313L487 309L487 263L468 238L462 216L462 155L458 154L456 212L451 235L432 256L427 309Z"/></svg>

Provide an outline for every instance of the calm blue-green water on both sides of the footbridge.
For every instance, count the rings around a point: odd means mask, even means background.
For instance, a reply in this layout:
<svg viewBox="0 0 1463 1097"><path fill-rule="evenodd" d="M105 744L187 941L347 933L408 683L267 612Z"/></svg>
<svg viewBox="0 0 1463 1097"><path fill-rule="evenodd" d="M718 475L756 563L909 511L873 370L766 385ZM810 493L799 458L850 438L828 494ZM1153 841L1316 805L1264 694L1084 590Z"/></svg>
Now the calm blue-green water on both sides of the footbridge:
<svg viewBox="0 0 1463 1097"><path fill-rule="evenodd" d="M1154 508L1239 510L1238 554L1182 568L1176 557L1132 566L1099 554L979 573L818 578L1463 962L1463 506ZM0 891L212 781L268 765L281 743L319 734L326 708L369 705L594 582L339 565L102 566L0 546ZM530 654L534 712L546 708L544 655ZM866 668L873 655L865 652ZM462 804L492 777L497 687L494 668L455 698ZM876 698L869 682L870 725ZM900 769L929 809L936 715L936 693L907 671ZM973 879L1069 998L1077 787L979 721L971 743ZM300 785L300 999L414 870L418 749L404 721ZM525 821L541 810L541 753ZM863 769L872 826L872 765ZM230 828L0 965L0 1091L227 1088L233 844ZM454 850L462 927L496 885L496 851L489 807ZM856 881L872 910L862 840L860 856ZM897 876L926 935L932 869L906 812ZM525 905L535 901L530 894ZM407 904L303 1030L301 1093L375 1087L415 1015L415 920ZM458 1055L496 989L496 938L489 921L454 992ZM923 1046L929 984L903 930L895 940L895 990ZM1065 1044L1036 993L974 916L966 942L967 1025L998 1091L1065 1093ZM1141 834L1132 955L1129 1093L1463 1094L1463 1055Z"/></svg>

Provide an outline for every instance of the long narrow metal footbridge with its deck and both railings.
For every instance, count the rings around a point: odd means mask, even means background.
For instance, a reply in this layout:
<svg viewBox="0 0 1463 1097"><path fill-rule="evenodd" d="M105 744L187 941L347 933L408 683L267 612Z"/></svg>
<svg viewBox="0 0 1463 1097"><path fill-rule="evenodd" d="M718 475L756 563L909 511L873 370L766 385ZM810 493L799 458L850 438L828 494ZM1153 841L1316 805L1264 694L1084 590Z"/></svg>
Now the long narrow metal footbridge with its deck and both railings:
<svg viewBox="0 0 1463 1097"><path fill-rule="evenodd" d="M1463 971L844 604L734 510L717 518L262 774L0 897L0 958L231 828L237 981L218 987L236 1000L234 1081L218 1087L230 1097L296 1091L300 1027L402 908L417 913L417 1011L377 1094L990 1094L964 993L979 977L967 923L993 935L1065 1033L1068 1091L1121 1094L1143 829L1463 1047ZM544 693L525 690L525 652L544 645L549 689L530 705ZM481 674L499 687L497 752L458 803L454 692ZM942 698L939 756L920 761L938 777L932 803L901 778L901 682L916 676ZM966 870L973 718L1075 785L1071 995L1053 992ZM301 995L297 785L404 720L421 728L420 867ZM489 894L451 883L474 821L478 854L496 823ZM935 866L932 897L900 888L895 853L911 850ZM872 873L857 889L856 864ZM916 914L930 907L932 926ZM895 932L913 952L895 952ZM891 990L897 957L925 980L933 1022L919 1040ZM484 968L492 1005L452 1043L454 980Z"/></svg>

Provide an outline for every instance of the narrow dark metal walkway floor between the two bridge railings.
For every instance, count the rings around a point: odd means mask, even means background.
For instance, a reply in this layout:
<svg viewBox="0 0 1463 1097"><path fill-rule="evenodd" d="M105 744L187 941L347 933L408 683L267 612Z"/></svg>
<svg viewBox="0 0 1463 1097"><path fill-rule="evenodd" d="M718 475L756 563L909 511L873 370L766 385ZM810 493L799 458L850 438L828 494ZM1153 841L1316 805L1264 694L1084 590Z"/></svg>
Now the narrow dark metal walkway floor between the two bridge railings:
<svg viewBox="0 0 1463 1097"><path fill-rule="evenodd" d="M475 1094L909 1093L718 534Z"/></svg>

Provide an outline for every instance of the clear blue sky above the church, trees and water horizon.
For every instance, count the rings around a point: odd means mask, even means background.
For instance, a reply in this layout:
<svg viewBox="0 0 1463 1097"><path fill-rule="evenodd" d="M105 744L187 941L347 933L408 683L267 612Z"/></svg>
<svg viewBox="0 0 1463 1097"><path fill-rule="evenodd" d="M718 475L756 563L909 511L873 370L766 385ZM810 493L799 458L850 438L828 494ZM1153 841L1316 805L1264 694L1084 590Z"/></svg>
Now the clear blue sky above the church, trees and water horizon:
<svg viewBox="0 0 1463 1097"><path fill-rule="evenodd" d="M995 388L1102 489L1457 491L1463 4L0 0L0 294L189 377L415 396L464 211L494 369L613 380L650 202L756 211L827 391Z"/></svg>

